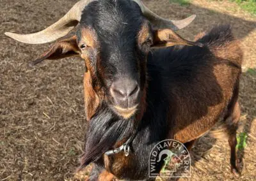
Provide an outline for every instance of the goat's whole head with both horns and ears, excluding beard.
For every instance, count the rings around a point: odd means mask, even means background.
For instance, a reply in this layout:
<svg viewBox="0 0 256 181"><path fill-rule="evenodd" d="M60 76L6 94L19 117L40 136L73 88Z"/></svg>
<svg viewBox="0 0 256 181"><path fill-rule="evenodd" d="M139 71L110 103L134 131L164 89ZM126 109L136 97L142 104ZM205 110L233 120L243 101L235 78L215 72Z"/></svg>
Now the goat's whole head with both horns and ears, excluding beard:
<svg viewBox="0 0 256 181"><path fill-rule="evenodd" d="M61 38L33 64L81 56L86 66L87 118L105 101L116 115L128 119L143 112L150 48L195 45L174 33L194 18L195 15L179 21L166 20L148 10L140 0L82 0L43 31L6 35L32 44ZM76 31L70 33L74 27Z"/></svg>

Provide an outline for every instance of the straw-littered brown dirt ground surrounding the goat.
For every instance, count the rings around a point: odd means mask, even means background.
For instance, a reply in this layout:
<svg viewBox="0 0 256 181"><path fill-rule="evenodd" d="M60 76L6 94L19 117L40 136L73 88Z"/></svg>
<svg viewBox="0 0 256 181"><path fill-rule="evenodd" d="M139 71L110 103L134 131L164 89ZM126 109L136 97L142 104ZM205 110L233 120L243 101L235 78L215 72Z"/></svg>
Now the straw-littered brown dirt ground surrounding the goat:
<svg viewBox="0 0 256 181"><path fill-rule="evenodd" d="M83 62L80 59L28 62L49 45L25 45L3 35L33 33L56 22L76 0L0 0L0 180L75 180L85 129ZM157 14L180 19L196 14L180 34L193 37L214 24L232 24L244 50L239 133L242 177L256 179L256 17L229 1L193 0L188 6L168 0L145 1ZM233 180L227 141L202 138L193 148L188 180ZM83 173L86 175L87 173ZM160 179L160 178L159 178ZM184 179L187 180L187 179Z"/></svg>

